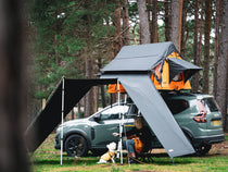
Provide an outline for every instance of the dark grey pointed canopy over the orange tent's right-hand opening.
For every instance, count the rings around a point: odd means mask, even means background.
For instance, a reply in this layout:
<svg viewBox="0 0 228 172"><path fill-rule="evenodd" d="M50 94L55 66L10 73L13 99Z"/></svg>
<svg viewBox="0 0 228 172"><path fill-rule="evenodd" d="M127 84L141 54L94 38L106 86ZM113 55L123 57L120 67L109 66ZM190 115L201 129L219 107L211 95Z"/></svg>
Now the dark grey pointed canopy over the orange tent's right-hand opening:
<svg viewBox="0 0 228 172"><path fill-rule="evenodd" d="M179 74L180 72L183 72L185 82L187 82L193 74L202 70L202 67L199 67L192 63L189 63L182 59L177 59L177 58L169 58L168 65L169 65L169 79L170 81L177 74Z"/></svg>

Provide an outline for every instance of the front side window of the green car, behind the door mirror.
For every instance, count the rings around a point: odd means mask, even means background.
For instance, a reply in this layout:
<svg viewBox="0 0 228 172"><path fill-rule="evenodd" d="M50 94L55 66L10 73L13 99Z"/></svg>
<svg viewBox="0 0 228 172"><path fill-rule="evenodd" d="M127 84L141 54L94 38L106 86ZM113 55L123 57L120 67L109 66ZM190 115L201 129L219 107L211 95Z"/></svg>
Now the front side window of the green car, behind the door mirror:
<svg viewBox="0 0 228 172"><path fill-rule="evenodd" d="M122 114L125 114L128 112L129 107L128 106L115 106L112 108L109 108L101 112L101 121L105 120L117 120L119 112Z"/></svg>

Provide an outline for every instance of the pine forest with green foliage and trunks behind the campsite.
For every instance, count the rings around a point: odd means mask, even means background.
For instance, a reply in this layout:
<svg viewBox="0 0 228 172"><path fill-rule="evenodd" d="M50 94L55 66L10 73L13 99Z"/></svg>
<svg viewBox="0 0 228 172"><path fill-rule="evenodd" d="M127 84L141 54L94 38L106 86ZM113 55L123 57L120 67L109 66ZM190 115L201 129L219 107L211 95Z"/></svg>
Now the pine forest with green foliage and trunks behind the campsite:
<svg viewBox="0 0 228 172"><path fill-rule="evenodd" d="M202 66L192 91L215 96L227 126L227 0L35 0L28 5L28 119L58 82L94 78L123 46L173 41L185 60ZM77 105L84 116L105 107L105 86ZM80 112L84 107L84 113Z"/></svg>

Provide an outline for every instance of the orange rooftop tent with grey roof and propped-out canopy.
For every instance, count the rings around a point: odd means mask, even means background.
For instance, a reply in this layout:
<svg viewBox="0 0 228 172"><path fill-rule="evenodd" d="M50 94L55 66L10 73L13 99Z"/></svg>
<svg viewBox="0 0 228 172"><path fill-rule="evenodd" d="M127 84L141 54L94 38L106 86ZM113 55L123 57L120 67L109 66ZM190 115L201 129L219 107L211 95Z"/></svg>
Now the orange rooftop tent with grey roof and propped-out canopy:
<svg viewBox="0 0 228 172"><path fill-rule="evenodd" d="M185 60L173 42L125 46L101 74L149 73L159 90L191 89L189 78L201 67ZM109 93L117 93L110 85ZM124 89L122 89L125 91Z"/></svg>

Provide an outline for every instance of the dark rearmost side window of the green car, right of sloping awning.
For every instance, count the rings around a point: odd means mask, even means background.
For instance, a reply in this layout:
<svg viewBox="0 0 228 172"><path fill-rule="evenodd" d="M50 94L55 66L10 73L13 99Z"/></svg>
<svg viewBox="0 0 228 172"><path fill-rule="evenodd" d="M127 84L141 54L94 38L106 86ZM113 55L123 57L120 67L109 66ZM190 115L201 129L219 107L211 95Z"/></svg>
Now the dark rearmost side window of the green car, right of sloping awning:
<svg viewBox="0 0 228 172"><path fill-rule="evenodd" d="M189 102L183 99L168 99L165 102L173 114L180 113L189 108Z"/></svg>

